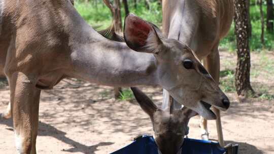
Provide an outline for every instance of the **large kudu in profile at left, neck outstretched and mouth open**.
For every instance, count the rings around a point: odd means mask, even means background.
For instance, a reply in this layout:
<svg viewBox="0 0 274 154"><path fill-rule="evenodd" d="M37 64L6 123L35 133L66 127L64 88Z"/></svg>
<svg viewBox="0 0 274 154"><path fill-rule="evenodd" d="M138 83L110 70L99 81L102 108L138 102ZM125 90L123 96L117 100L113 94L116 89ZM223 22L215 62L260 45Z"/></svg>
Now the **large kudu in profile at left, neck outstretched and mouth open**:
<svg viewBox="0 0 274 154"><path fill-rule="evenodd" d="M186 45L132 14L124 37L126 44L101 36L68 0L0 1L0 72L10 86L18 153L36 153L41 90L63 78L114 87L160 85L178 102L186 91L191 97L184 105L208 119L216 118L209 105L229 107Z"/></svg>

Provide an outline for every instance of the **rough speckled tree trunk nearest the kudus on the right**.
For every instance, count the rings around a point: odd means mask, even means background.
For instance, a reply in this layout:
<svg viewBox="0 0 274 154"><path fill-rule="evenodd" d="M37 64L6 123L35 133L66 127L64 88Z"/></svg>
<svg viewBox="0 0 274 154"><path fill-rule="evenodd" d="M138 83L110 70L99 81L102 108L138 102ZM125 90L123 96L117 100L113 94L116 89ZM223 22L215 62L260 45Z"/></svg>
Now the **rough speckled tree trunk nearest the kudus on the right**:
<svg viewBox="0 0 274 154"><path fill-rule="evenodd" d="M238 96L254 94L250 85L250 49L248 35L248 8L245 0L235 1L235 35L237 41L237 67L235 86Z"/></svg>

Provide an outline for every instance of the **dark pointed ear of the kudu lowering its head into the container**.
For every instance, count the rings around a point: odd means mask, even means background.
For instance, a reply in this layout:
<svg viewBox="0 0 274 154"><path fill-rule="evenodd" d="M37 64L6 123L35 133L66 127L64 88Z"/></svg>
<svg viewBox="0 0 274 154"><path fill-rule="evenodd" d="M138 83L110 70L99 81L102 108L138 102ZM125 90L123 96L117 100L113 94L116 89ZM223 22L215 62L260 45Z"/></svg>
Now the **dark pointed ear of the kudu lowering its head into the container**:
<svg viewBox="0 0 274 154"><path fill-rule="evenodd" d="M150 118L153 118L154 112L157 110L157 106L152 102L152 100L144 94L141 90L135 87L130 88L137 100L140 104L141 108L149 114Z"/></svg>

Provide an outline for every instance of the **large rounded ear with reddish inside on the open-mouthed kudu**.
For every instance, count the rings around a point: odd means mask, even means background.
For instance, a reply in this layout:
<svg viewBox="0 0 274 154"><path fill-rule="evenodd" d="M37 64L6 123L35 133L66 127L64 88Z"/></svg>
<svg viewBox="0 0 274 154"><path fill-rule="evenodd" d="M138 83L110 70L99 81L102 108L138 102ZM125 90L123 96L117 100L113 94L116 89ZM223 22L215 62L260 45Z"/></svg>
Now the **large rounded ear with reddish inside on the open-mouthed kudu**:
<svg viewBox="0 0 274 154"><path fill-rule="evenodd" d="M163 37L155 25L130 13L125 17L124 38L134 51L157 54Z"/></svg>

